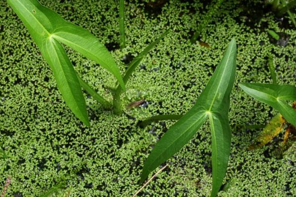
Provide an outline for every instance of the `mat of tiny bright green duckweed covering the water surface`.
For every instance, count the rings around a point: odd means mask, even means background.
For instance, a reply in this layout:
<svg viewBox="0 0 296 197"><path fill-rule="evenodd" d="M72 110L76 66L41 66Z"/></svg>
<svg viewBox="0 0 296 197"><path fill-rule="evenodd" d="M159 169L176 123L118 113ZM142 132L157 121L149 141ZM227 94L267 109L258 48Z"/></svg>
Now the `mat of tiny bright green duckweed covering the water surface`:
<svg viewBox="0 0 296 197"><path fill-rule="evenodd" d="M296 85L296 32L290 23L284 29L273 13L260 13L254 23L237 1L222 4L213 21L201 34L210 48L191 45L195 31L209 5L178 0L150 9L148 1L126 4L126 48L118 40L118 4L109 0L61 0L40 2L66 20L86 28L112 49L121 69L124 55L134 57L154 34L168 27L169 37L159 42L137 68L127 84L123 105L139 99L150 102L129 116L115 116L87 97L92 128L75 119L56 87L52 72L38 52L28 31L9 8L0 2L0 159L1 185L12 177L7 196L40 196L67 177L70 196L129 197L139 188L143 163L151 147L173 121L152 124L146 129L139 120L158 114L183 114L201 93L232 37L238 44L237 76L231 95L229 119L232 149L225 182L229 189L221 197L295 196L295 146L277 159L277 143L247 151L260 130L242 130L239 125L263 125L276 114L271 107L245 95L238 82L271 83L268 56L273 54L279 84ZM254 1L253 1L254 2ZM257 1L259 2L259 1ZM256 3L256 2L255 2ZM250 4L250 3L249 3ZM92 5L92 6L89 6ZM256 6L261 6L256 3ZM192 20L195 18L196 20ZM289 21L289 18L285 18ZM287 33L288 45L273 45L267 29ZM111 101L106 86L116 80L95 63L66 47L75 70L100 95ZM140 111L140 112L139 112ZM139 196L203 197L211 191L210 130L207 124L169 166ZM294 151L293 151L294 148Z"/></svg>

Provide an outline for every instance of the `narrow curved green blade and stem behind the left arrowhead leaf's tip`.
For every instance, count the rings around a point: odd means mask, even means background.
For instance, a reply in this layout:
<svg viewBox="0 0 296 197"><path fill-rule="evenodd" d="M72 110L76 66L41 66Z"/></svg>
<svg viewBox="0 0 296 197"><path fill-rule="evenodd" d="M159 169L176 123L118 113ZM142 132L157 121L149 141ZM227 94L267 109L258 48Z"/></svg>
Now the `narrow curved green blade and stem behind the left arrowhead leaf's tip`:
<svg viewBox="0 0 296 197"><path fill-rule="evenodd" d="M127 70L124 73L123 82L124 84L127 83L132 73L135 71L136 67L140 65L141 61L144 59L144 57L149 53L149 51L167 34L169 33L169 30L167 30L165 33L162 33L154 42L151 42L137 57L133 59L133 61L129 64ZM121 107L121 92L122 88L120 86L117 87L114 97L113 97L113 106L114 106L114 113L120 114L122 112Z"/></svg>

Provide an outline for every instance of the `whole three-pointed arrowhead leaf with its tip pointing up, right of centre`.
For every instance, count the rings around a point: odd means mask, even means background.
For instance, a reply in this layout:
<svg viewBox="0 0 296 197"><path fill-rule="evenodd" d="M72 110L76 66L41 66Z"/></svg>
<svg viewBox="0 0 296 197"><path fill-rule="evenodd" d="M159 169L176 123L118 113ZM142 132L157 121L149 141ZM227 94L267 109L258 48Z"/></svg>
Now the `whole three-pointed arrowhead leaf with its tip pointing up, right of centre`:
<svg viewBox="0 0 296 197"><path fill-rule="evenodd" d="M228 121L229 96L236 69L236 42L229 43L222 61L195 105L157 142L145 161L141 183L157 166L178 152L209 117L212 130L213 189L215 197L222 185L230 154L231 131Z"/></svg>

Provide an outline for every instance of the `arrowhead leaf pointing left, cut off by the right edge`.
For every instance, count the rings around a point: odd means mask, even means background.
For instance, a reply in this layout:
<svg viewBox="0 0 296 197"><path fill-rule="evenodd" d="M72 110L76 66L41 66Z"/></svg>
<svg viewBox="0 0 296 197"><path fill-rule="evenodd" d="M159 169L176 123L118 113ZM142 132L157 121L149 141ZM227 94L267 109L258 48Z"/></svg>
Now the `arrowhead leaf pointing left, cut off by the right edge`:
<svg viewBox="0 0 296 197"><path fill-rule="evenodd" d="M248 95L278 110L287 122L296 126L296 110L284 102L296 100L296 87L264 83L240 83L239 86Z"/></svg>

